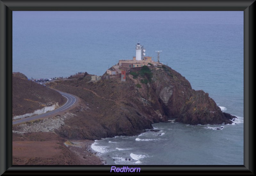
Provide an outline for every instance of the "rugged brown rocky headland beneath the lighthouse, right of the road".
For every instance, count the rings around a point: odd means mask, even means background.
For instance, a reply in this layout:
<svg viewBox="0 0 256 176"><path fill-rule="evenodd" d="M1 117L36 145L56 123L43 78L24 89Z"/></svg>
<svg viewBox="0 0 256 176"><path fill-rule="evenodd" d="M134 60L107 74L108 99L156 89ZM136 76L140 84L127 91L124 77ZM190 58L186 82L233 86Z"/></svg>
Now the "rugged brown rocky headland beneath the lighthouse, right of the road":
<svg viewBox="0 0 256 176"><path fill-rule="evenodd" d="M230 124L236 118L223 113L203 90L194 90L180 73L168 66L142 67L121 78L91 82L88 74L77 80L55 81L53 88L81 98L58 134L70 139L100 139L135 135L151 124L176 119L197 124Z"/></svg>

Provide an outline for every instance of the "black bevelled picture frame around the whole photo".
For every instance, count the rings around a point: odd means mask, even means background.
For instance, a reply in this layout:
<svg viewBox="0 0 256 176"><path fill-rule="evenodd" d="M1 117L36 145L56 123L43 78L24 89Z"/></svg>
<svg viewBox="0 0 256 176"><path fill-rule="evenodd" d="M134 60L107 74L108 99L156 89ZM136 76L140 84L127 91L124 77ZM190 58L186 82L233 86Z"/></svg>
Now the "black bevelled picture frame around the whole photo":
<svg viewBox="0 0 256 176"><path fill-rule="evenodd" d="M254 0L0 0L0 175L110 174L111 165L12 166L12 11L244 11L244 165L140 166L139 174L254 175Z"/></svg>

